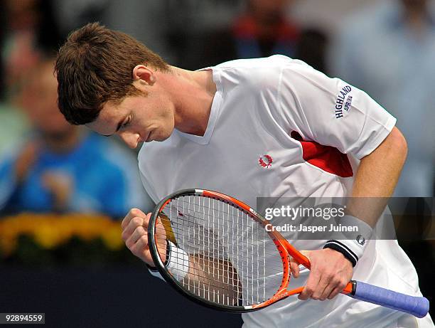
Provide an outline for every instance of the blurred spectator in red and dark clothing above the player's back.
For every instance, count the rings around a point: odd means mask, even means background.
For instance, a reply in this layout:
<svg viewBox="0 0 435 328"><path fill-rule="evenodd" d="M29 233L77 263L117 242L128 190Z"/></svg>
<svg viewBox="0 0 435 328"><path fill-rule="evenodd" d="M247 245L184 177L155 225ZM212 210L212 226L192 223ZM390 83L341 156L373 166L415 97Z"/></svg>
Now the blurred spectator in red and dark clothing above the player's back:
<svg viewBox="0 0 435 328"><path fill-rule="evenodd" d="M313 28L306 31L286 18L291 0L249 0L246 10L229 28L203 33L191 41L187 68L215 65L240 58L281 54L299 58L324 70L326 36Z"/></svg>

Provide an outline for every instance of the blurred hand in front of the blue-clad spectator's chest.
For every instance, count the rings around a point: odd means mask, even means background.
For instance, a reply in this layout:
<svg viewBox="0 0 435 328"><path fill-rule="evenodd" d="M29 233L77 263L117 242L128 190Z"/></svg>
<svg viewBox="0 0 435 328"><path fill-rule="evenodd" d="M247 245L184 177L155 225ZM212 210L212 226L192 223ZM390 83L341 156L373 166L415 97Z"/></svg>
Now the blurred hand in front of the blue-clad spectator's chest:
<svg viewBox="0 0 435 328"><path fill-rule="evenodd" d="M58 211L68 208L68 201L73 192L73 179L68 174L56 171L46 171L41 179L45 189L54 197L53 207Z"/></svg>

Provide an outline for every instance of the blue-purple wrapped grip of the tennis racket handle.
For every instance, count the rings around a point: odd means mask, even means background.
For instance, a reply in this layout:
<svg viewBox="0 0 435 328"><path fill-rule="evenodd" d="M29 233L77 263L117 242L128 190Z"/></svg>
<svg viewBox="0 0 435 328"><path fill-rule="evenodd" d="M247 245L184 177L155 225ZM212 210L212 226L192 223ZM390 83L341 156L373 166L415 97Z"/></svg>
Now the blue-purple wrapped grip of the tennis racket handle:
<svg viewBox="0 0 435 328"><path fill-rule="evenodd" d="M419 318L425 317L427 312L429 312L429 300L427 300L426 297L405 295L365 282L357 281L355 293L353 295L349 294L349 296L357 300L406 312Z"/></svg>

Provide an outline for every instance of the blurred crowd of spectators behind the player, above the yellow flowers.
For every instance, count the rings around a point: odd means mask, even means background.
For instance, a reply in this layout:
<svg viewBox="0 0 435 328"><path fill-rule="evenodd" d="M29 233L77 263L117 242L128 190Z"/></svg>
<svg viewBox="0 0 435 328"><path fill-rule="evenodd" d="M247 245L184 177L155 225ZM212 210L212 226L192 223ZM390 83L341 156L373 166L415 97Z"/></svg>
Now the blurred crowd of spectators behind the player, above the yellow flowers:
<svg viewBox="0 0 435 328"><path fill-rule="evenodd" d="M1 215L122 218L131 207L153 207L136 154L68 125L57 110L55 53L90 21L131 34L182 68L280 53L348 81L397 117L407 138L395 196L434 196L433 1L335 0L328 22L309 12L321 16L330 1L308 2L307 11L303 0L1 1Z"/></svg>

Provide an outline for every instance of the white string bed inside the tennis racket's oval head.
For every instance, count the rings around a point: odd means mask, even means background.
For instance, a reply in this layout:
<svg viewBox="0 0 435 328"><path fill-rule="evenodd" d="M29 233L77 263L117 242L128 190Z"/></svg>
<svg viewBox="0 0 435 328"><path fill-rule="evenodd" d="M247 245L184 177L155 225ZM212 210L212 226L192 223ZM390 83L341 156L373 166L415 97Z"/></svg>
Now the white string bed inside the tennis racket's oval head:
<svg viewBox="0 0 435 328"><path fill-rule="evenodd" d="M267 231L238 206L205 196L181 196L164 210L182 259L178 283L198 297L221 305L248 306L274 295L282 281L282 261ZM172 241L174 241L172 240ZM270 260L270 259L273 260Z"/></svg>

